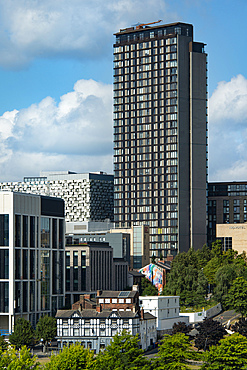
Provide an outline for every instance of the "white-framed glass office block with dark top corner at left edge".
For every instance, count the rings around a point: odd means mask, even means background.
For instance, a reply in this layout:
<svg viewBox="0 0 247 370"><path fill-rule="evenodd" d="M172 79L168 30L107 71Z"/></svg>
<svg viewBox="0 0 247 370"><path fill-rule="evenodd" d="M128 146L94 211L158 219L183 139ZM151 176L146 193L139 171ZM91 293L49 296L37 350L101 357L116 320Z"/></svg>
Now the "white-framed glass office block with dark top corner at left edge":
<svg viewBox="0 0 247 370"><path fill-rule="evenodd" d="M64 306L64 201L0 192L0 330Z"/></svg>

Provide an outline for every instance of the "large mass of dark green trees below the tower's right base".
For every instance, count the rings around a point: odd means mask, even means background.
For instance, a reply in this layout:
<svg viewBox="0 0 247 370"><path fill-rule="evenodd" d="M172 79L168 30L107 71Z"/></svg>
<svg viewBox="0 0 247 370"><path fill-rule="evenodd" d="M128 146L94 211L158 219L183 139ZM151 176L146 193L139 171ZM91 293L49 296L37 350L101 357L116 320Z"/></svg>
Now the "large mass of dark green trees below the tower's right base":
<svg viewBox="0 0 247 370"><path fill-rule="evenodd" d="M195 251L179 253L172 261L163 295L179 295L181 306L204 307L212 296L224 309L232 307L230 289L236 278L247 281L246 254L222 251L221 242L212 248L203 246ZM210 286L209 286L210 284ZM213 294L209 295L209 288Z"/></svg>

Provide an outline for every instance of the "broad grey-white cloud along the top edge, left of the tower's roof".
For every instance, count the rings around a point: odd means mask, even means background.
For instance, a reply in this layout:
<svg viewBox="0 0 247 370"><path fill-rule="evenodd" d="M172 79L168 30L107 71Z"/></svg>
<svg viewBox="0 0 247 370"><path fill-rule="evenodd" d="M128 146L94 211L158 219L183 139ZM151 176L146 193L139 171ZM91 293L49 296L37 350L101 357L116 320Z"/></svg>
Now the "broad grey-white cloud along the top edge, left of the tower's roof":
<svg viewBox="0 0 247 370"><path fill-rule="evenodd" d="M0 65L37 57L111 55L112 34L137 22L177 20L164 0L0 0Z"/></svg>

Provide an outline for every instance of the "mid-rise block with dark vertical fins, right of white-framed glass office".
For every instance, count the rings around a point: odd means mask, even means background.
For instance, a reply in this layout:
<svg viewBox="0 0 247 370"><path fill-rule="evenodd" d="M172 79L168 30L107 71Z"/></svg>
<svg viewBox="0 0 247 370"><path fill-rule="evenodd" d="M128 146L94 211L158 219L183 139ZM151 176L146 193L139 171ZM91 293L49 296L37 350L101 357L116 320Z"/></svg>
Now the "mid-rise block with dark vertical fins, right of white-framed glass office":
<svg viewBox="0 0 247 370"><path fill-rule="evenodd" d="M66 236L66 306L76 302L82 293L125 289L128 283L128 262L113 258L109 243L81 239Z"/></svg>

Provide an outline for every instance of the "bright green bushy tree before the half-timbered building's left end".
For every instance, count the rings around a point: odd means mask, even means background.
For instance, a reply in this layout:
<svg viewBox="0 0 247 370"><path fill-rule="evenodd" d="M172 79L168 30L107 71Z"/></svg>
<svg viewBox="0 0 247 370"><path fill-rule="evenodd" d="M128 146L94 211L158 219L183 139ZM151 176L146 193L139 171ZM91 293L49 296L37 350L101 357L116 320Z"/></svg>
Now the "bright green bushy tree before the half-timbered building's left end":
<svg viewBox="0 0 247 370"><path fill-rule="evenodd" d="M50 362L45 365L48 370L81 370L93 369L94 352L85 349L79 343L64 347L58 355L52 355Z"/></svg>

